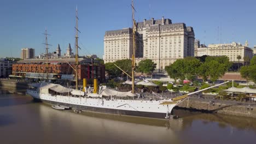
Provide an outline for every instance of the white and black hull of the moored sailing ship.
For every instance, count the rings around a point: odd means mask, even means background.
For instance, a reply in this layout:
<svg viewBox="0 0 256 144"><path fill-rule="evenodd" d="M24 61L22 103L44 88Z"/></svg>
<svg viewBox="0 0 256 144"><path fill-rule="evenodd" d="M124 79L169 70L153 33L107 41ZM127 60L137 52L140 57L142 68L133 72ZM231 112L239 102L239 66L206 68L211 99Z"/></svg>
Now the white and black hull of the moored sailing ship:
<svg viewBox="0 0 256 144"><path fill-rule="evenodd" d="M160 105L162 100L106 100L102 98L68 97L62 95L42 94L28 89L34 99L48 104L64 105L83 111L96 111L117 115L130 115L139 117L168 118L176 104ZM166 100L164 100L166 101Z"/></svg>

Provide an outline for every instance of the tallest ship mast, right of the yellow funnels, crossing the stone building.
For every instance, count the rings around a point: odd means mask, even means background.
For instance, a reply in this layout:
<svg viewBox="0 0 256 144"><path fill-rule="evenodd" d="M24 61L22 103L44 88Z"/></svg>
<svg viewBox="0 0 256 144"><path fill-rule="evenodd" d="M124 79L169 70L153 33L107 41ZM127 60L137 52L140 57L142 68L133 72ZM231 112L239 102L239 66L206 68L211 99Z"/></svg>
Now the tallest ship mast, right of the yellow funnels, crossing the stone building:
<svg viewBox="0 0 256 144"><path fill-rule="evenodd" d="M133 53L132 53L132 93L134 93L134 70L135 70L135 34L136 34L136 21L134 18L134 5L132 0L132 40L133 40Z"/></svg>

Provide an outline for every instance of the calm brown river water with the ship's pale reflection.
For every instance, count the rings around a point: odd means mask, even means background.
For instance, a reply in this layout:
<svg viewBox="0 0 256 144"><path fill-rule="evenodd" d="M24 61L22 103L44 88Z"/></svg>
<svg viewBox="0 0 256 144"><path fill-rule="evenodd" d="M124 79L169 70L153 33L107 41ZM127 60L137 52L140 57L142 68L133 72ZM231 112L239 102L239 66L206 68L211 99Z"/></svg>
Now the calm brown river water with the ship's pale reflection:
<svg viewBox="0 0 256 144"><path fill-rule="evenodd" d="M1 143L254 143L256 119L174 110L161 119L55 110L0 93Z"/></svg>

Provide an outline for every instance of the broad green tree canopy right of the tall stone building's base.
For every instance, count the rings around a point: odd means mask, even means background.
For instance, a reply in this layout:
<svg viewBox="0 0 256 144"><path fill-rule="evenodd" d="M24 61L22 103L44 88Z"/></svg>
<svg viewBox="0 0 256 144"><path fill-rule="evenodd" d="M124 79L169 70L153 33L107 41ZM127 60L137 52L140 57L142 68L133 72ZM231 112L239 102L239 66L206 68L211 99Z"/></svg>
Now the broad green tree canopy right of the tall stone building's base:
<svg viewBox="0 0 256 144"><path fill-rule="evenodd" d="M208 77L214 82L223 76L231 67L229 58L226 56L205 56L205 62L195 57L177 59L174 63L165 67L167 74L174 79L188 79L193 81L196 76L201 76L203 80Z"/></svg>

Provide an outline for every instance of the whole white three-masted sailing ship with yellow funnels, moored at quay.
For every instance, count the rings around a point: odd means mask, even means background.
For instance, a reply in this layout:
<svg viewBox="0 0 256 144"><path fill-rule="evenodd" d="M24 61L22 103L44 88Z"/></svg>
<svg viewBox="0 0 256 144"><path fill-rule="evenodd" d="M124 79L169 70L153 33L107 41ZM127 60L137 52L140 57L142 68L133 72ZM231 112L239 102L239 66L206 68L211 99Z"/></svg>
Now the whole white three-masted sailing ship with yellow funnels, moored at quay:
<svg viewBox="0 0 256 144"><path fill-rule="evenodd" d="M34 99L43 101L51 105L61 105L72 107L75 110L94 111L102 113L112 113L117 115L129 115L139 117L152 117L152 118L170 118L174 106L179 104L190 94L183 95L182 97L174 99L162 99L161 97L152 99L139 97L134 93L134 70L135 70L135 31L136 25L133 15L133 2L132 2L132 17L133 17L133 55L132 55L132 91L118 92L112 89L106 89L101 86L97 91L97 82L95 82L94 93L91 88L86 88L85 82L83 85L84 91L78 90L78 15L76 10L76 35L75 35L75 87L76 89L63 87L54 83L37 83L32 85L32 88L27 89L27 94L30 94ZM47 34L46 34L47 36ZM47 40L47 37L46 37ZM46 51L48 44L46 41ZM48 58L48 55L47 55ZM48 74L48 66L46 66ZM218 86L218 85L217 85ZM211 88L211 87L210 87ZM208 88L207 88L208 89ZM202 89L200 91L203 91ZM197 92L200 92L197 91ZM194 92L195 93L195 92ZM191 93L193 94L193 93Z"/></svg>

